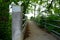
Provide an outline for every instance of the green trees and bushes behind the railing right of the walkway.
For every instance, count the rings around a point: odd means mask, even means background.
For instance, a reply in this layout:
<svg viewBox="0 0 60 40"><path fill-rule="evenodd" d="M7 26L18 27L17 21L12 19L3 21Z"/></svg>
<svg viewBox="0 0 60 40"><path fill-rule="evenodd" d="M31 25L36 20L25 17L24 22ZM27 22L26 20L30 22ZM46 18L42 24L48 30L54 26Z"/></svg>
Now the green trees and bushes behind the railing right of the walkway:
<svg viewBox="0 0 60 40"><path fill-rule="evenodd" d="M49 32L54 30L60 33L60 1L41 0L36 4L39 5L39 8L37 9L38 15L36 17L31 17L31 20L35 21L39 27L47 29ZM45 10L41 11L42 8L40 8L40 6L45 8Z"/></svg>

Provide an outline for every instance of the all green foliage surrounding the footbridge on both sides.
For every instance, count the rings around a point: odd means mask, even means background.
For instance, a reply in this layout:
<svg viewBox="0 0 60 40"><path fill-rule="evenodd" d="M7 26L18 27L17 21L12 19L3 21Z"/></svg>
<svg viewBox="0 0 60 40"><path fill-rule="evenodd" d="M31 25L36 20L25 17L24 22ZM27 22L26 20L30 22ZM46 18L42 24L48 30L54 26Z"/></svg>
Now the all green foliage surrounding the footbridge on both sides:
<svg viewBox="0 0 60 40"><path fill-rule="evenodd" d="M34 17L31 17L31 20L34 20L39 26L46 28L48 31L55 30L60 33L60 28L55 27L60 26L60 0L0 0L1 40L11 40L11 16L9 15L9 4L14 2L18 5L18 1L23 1L21 6L23 6L24 14L28 13L29 11L34 11ZM38 15L35 17L36 4L39 7L37 9ZM45 10L41 11L41 6L43 6ZM47 15L44 15L43 13ZM25 18L24 15L23 18ZM26 20L24 20L23 23L25 21ZM52 26L51 24L55 26Z"/></svg>

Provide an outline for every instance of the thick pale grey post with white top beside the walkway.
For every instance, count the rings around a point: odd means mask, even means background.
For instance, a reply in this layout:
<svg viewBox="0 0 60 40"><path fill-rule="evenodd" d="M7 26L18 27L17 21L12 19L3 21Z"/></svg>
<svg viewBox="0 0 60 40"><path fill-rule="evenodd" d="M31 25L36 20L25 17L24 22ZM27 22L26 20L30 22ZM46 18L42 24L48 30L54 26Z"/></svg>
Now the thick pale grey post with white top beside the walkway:
<svg viewBox="0 0 60 40"><path fill-rule="evenodd" d="M21 6L12 6L12 40L22 40Z"/></svg>

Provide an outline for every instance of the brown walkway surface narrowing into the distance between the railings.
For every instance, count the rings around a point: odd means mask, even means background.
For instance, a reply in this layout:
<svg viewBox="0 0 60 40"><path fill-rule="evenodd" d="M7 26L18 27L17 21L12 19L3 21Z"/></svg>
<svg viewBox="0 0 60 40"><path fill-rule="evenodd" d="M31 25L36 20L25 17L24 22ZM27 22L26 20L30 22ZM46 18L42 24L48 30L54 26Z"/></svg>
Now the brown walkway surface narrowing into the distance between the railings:
<svg viewBox="0 0 60 40"><path fill-rule="evenodd" d="M38 28L37 25L32 21L29 22L29 30L29 37L25 40L57 40L51 34L48 34Z"/></svg>

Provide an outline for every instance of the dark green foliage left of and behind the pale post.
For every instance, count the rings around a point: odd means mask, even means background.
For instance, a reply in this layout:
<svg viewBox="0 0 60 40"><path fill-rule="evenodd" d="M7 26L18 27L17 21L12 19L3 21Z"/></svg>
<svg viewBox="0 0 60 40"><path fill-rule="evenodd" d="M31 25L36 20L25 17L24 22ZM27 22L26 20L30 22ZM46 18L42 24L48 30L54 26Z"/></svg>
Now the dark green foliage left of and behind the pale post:
<svg viewBox="0 0 60 40"><path fill-rule="evenodd" d="M17 2L21 0L0 0L0 40L12 40L12 17L9 14L9 5L14 2L18 5ZM26 13L29 1L23 1L23 13Z"/></svg>

